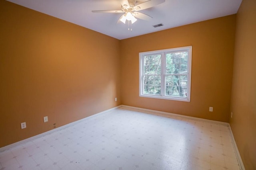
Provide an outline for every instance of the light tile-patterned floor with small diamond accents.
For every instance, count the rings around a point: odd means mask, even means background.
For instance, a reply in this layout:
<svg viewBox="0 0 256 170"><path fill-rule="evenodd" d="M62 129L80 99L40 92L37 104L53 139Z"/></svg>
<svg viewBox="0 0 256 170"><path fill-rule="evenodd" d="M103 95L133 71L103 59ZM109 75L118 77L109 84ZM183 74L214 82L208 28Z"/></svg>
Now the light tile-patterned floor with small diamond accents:
<svg viewBox="0 0 256 170"><path fill-rule="evenodd" d="M0 170L239 170L228 127L118 108L0 152Z"/></svg>

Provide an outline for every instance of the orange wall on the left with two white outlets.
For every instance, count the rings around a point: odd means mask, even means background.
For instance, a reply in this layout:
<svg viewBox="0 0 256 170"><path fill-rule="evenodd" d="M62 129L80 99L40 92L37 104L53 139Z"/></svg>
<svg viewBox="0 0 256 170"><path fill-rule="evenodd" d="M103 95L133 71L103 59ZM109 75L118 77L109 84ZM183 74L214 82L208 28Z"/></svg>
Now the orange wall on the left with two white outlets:
<svg viewBox="0 0 256 170"><path fill-rule="evenodd" d="M118 39L1 0L0 147L120 105L119 49Z"/></svg>

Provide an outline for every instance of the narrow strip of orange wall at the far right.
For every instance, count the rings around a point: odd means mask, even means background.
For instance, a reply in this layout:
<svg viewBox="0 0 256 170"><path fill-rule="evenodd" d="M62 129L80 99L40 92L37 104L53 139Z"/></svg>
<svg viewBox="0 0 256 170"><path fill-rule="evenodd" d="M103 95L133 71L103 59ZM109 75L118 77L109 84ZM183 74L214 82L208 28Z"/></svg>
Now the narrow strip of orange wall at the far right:
<svg viewBox="0 0 256 170"><path fill-rule="evenodd" d="M256 1L237 13L230 126L246 170L256 170Z"/></svg>

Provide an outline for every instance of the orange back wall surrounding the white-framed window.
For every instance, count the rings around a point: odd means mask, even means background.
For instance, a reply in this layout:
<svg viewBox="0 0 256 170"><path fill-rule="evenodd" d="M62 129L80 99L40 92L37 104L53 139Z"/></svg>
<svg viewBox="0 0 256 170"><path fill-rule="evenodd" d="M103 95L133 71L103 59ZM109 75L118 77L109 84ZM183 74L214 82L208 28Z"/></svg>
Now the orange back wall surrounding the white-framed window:
<svg viewBox="0 0 256 170"><path fill-rule="evenodd" d="M235 21L231 15L121 40L122 104L228 122ZM139 53L190 45L191 101L139 97Z"/></svg>

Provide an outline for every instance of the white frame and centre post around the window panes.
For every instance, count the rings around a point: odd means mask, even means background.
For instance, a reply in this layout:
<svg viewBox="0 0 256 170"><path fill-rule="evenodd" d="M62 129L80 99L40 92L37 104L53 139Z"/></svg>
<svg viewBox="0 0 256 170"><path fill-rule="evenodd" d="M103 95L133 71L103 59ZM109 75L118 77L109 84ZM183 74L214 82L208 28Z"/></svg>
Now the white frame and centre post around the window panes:
<svg viewBox="0 0 256 170"><path fill-rule="evenodd" d="M188 51L188 87L187 87L187 96L186 97L179 97L179 96L165 96L165 70L166 70L166 53L175 52L175 51ZM144 56L146 55L155 55L155 54L161 54L161 94L155 95L155 94L143 94L144 92L144 84L143 84L143 66L144 66ZM183 101L183 102L190 102L190 93L191 93L191 65L192 65L192 46L187 47L178 47L178 48L172 48L172 49L164 49L164 50L157 50L157 51L147 51L147 52L141 52L139 53L139 76L140 76L140 97L146 97L146 98L157 98L157 99L166 99L166 100L177 100L177 101Z"/></svg>

